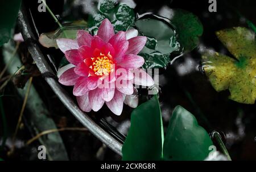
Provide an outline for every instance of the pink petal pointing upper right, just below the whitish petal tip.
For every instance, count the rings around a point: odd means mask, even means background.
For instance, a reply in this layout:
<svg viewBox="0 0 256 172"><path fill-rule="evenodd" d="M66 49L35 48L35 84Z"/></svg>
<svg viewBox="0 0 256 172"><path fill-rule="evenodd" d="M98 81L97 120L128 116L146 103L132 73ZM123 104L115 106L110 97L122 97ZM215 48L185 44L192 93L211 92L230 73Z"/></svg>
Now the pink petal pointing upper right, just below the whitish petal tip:
<svg viewBox="0 0 256 172"><path fill-rule="evenodd" d="M130 38L129 41L129 48L126 51L126 54L138 54L147 42L146 36L137 36Z"/></svg>

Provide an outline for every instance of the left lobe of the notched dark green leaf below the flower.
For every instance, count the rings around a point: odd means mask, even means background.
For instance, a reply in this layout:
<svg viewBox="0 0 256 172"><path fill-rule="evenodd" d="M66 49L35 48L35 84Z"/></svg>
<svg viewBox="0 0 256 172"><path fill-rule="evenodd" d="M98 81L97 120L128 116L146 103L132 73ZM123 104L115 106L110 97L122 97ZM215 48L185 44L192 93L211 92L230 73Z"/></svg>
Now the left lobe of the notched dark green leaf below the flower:
<svg viewBox="0 0 256 172"><path fill-rule="evenodd" d="M123 160L160 160L162 147L162 117L154 96L131 114L130 131L122 147Z"/></svg>

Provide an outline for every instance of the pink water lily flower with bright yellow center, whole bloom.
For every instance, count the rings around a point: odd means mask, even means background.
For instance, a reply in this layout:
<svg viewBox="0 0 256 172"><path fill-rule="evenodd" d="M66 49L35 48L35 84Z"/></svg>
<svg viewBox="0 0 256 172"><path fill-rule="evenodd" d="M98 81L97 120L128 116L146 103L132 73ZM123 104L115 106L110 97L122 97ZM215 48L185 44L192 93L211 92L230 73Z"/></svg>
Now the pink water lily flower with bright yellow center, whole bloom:
<svg viewBox="0 0 256 172"><path fill-rule="evenodd" d="M114 114L120 115L125 96L134 92L133 84L154 84L151 76L139 69L144 59L137 54L146 40L144 36L126 40L122 31L114 34L108 19L102 21L97 36L78 31L77 40L60 38L57 45L74 67L63 72L59 82L74 85L73 94L81 110L98 111L106 103Z"/></svg>

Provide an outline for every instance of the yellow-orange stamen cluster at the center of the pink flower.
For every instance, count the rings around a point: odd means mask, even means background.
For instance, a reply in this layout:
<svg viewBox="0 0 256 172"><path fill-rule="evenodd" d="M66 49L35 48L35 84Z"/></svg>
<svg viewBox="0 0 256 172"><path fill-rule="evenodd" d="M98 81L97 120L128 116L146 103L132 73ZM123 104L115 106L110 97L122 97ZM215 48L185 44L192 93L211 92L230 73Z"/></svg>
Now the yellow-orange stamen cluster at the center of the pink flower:
<svg viewBox="0 0 256 172"><path fill-rule="evenodd" d="M99 57L91 58L92 66L90 68L94 74L98 76L109 75L113 71L113 61L110 59L111 55L100 54Z"/></svg>

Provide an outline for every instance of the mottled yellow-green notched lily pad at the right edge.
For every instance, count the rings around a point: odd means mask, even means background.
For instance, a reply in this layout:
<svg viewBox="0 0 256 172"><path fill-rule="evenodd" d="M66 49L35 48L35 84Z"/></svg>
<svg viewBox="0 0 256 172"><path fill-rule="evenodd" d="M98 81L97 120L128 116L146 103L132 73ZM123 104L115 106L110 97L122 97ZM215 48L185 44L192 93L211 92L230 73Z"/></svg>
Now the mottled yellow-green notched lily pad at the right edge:
<svg viewBox="0 0 256 172"><path fill-rule="evenodd" d="M256 98L256 43L255 33L236 27L216 32L219 40L234 58L207 51L202 55L203 68L217 92L226 89L230 99L254 104Z"/></svg>

